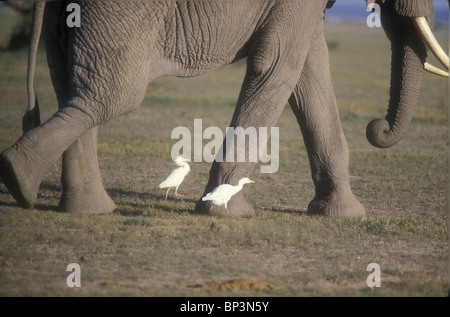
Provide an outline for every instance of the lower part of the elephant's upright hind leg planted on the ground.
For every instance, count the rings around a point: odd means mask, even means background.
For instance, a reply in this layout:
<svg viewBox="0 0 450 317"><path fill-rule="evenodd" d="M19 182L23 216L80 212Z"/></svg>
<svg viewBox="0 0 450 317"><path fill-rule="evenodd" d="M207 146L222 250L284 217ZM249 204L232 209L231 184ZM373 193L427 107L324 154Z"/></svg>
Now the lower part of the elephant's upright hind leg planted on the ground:
<svg viewBox="0 0 450 317"><path fill-rule="evenodd" d="M92 128L63 154L62 211L109 213L116 208L103 187L97 160L97 133L98 128Z"/></svg>

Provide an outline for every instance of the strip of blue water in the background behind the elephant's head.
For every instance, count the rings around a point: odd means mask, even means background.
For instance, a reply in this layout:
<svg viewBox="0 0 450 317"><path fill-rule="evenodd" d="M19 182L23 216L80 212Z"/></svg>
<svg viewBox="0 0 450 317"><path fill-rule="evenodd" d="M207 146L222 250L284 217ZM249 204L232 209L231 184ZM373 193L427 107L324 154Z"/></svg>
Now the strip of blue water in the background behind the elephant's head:
<svg viewBox="0 0 450 317"><path fill-rule="evenodd" d="M448 0L433 0L435 25L449 25ZM365 0L336 0L333 7L326 11L326 21L365 23L370 12L366 11Z"/></svg>

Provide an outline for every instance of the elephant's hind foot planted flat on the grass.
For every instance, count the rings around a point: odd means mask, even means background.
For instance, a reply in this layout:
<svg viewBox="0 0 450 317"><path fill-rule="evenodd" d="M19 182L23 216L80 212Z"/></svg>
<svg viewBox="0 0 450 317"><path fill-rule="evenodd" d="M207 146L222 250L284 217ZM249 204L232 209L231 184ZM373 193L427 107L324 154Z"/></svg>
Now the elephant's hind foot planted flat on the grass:
<svg viewBox="0 0 450 317"><path fill-rule="evenodd" d="M116 208L103 186L85 186L82 191L64 192L59 201L59 209L70 213L107 214Z"/></svg>

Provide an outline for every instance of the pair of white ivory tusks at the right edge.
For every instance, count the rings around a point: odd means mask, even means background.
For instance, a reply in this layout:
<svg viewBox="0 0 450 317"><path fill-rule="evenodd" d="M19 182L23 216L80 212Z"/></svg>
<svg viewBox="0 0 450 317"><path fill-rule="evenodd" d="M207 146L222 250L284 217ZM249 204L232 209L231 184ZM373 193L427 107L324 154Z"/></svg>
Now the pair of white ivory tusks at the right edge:
<svg viewBox="0 0 450 317"><path fill-rule="evenodd" d="M425 45L428 47L428 49L433 52L433 54L436 56L436 58L444 65L447 70L449 69L449 58L445 51L442 49L442 47L439 45L438 41L433 35L433 32L430 29L430 26L428 25L427 20L425 17L418 17L413 19L414 25L416 26L417 30L419 31L419 34L425 43ZM448 77L448 72L443 71L437 67L434 67L433 65L430 65L428 63L424 64L424 69L430 73Z"/></svg>

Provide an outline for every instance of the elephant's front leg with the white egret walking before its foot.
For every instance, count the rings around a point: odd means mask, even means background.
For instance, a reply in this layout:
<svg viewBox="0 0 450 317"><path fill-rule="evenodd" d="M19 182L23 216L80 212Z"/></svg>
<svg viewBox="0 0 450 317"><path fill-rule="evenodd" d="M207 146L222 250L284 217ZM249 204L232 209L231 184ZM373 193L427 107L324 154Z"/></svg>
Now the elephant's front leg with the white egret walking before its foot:
<svg viewBox="0 0 450 317"><path fill-rule="evenodd" d="M276 34L274 38L269 37L268 43L258 43L253 51L254 55L249 54L247 73L230 125L231 128L235 128L235 131L237 128L255 131L258 141L261 137L259 135L260 128L270 131L277 123L298 81L306 56L304 50L284 50L288 45L283 46L283 43L280 45L277 42L279 39L275 37ZM291 54L295 54L295 56ZM214 161L203 197L216 186L222 184L235 186L241 178L249 177L257 161L251 160L250 156L256 156L259 159L259 146L251 146L250 137L244 146L242 143L239 146L237 133L227 134L222 147L223 162ZM230 137L235 139L234 142L229 142ZM228 155L230 152L232 154ZM238 153L244 154L245 160L239 160ZM196 212L233 217L252 216L255 212L243 195L243 191L251 190L251 186L257 186L257 184L246 185L243 190L231 197L226 207L200 199L196 206Z"/></svg>

